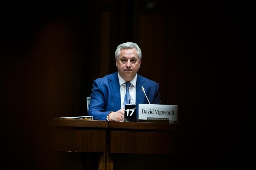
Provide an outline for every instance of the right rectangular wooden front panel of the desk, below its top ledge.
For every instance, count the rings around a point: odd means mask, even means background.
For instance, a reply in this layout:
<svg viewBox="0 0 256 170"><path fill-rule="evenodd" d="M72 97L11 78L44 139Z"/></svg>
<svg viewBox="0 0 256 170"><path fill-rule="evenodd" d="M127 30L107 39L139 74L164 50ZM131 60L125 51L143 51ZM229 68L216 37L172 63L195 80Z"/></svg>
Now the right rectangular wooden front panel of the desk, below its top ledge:
<svg viewBox="0 0 256 170"><path fill-rule="evenodd" d="M110 153L170 154L173 133L111 131Z"/></svg>

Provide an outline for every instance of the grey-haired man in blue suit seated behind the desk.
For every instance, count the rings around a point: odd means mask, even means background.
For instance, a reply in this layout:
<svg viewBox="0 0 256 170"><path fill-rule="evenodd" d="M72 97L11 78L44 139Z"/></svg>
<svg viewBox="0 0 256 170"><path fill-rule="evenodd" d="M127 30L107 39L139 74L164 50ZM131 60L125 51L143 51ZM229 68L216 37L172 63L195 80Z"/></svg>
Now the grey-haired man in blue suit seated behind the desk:
<svg viewBox="0 0 256 170"><path fill-rule="evenodd" d="M148 104L141 86L151 104L161 103L159 84L137 74L141 64L139 46L133 42L122 43L117 46L115 55L117 72L93 82L88 115L95 120L123 121L128 101L137 107L139 103Z"/></svg>

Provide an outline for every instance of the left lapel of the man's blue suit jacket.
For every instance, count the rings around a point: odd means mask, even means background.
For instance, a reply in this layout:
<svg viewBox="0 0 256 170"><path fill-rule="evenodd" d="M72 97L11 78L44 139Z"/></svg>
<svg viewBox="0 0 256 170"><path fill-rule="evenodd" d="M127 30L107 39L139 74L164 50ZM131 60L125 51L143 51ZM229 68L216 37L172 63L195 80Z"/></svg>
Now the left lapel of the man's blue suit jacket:
<svg viewBox="0 0 256 170"><path fill-rule="evenodd" d="M119 80L116 74L109 78L109 86L113 97L113 102L115 106L115 111L120 110L121 107L121 99L120 99L120 85Z"/></svg>

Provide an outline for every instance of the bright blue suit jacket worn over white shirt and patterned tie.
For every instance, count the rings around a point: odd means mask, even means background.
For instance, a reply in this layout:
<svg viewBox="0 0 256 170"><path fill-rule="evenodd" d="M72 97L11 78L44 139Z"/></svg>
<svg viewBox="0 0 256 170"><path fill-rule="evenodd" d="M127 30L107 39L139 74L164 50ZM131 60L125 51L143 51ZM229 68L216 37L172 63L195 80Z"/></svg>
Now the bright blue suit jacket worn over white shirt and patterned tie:
<svg viewBox="0 0 256 170"><path fill-rule="evenodd" d="M139 103L148 104L148 101L140 88L141 86L144 87L148 100L151 104L161 103L159 84L137 74L137 117ZM94 80L88 115L93 116L96 120L106 120L108 114L111 111L120 110L120 106L120 85L117 72Z"/></svg>

